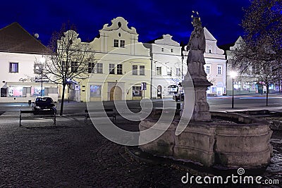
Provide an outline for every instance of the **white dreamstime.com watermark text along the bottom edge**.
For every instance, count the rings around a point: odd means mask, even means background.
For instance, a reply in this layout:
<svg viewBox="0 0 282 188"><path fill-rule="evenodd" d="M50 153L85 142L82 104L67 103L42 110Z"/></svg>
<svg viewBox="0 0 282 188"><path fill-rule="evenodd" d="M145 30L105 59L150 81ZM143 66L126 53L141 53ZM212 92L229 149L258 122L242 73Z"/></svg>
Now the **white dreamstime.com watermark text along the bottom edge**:
<svg viewBox="0 0 282 188"><path fill-rule="evenodd" d="M183 184L279 184L279 180L263 180L262 176L251 176L244 175L245 169L238 168L237 175L231 174L226 177L216 175L213 177L210 176L194 176L186 173L181 178Z"/></svg>

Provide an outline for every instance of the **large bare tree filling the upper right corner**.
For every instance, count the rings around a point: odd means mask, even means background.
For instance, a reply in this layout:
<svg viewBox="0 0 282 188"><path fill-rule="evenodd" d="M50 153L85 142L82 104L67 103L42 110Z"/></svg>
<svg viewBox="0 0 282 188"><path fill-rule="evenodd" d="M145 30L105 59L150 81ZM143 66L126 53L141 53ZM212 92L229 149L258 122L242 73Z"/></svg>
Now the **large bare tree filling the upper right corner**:
<svg viewBox="0 0 282 188"><path fill-rule="evenodd" d="M243 11L244 43L233 51L232 66L242 75L252 74L266 86L268 106L269 85L275 81L274 74L281 71L282 1L252 0Z"/></svg>

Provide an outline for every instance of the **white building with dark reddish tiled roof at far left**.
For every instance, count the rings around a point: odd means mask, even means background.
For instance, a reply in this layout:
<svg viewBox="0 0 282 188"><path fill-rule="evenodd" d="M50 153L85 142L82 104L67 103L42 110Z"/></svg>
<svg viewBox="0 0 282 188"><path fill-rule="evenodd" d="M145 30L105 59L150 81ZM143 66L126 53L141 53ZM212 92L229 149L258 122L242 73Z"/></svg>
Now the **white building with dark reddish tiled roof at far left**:
<svg viewBox="0 0 282 188"><path fill-rule="evenodd" d="M18 23L0 30L0 102L27 102L41 96L42 91L44 96L58 100L56 84L44 80L39 71L47 49L35 37Z"/></svg>

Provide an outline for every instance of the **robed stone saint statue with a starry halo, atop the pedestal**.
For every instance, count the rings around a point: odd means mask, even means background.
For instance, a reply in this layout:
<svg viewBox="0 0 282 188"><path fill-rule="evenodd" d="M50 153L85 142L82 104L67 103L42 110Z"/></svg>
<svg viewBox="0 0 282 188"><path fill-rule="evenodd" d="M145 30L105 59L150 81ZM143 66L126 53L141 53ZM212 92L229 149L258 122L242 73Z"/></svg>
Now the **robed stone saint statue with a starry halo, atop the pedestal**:
<svg viewBox="0 0 282 188"><path fill-rule="evenodd" d="M207 77L207 74L204 72L206 39L198 13L196 16L192 15L192 25L194 30L191 32L187 46L187 50L189 51L187 59L188 70L192 77Z"/></svg>

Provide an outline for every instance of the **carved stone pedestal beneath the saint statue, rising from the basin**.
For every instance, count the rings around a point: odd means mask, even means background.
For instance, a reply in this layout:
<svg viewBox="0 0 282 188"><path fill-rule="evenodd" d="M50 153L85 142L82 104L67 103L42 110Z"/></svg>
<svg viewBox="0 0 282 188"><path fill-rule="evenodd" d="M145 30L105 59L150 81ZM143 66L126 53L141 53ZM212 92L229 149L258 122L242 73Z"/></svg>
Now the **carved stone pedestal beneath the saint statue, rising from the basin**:
<svg viewBox="0 0 282 188"><path fill-rule="evenodd" d="M191 80L192 79L192 80ZM192 78L185 76L182 86L185 93L184 104L182 107L182 117L189 117L187 108L193 108L192 116L190 120L197 121L210 121L211 114L209 113L209 104L207 103L207 87L212 84L207 78ZM194 94L192 93L194 92Z"/></svg>

